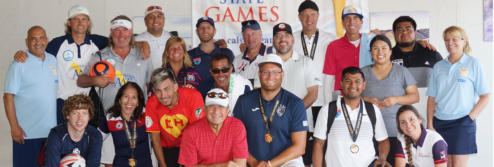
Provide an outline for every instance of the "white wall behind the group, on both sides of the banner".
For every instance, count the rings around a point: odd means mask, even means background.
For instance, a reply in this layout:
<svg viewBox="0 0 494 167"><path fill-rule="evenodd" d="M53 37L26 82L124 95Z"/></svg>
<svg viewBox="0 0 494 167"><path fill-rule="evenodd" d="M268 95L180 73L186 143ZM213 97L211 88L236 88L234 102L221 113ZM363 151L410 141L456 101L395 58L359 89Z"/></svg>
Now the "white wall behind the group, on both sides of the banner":
<svg viewBox="0 0 494 167"><path fill-rule="evenodd" d="M288 0L280 0L286 2ZM290 0L295 1L295 0ZM296 0L294 3L299 3ZM47 36L64 35L68 9L82 4L89 9L93 22L92 33L109 35L109 23L115 16L124 14L130 18L141 16L149 5L161 5L165 15L191 15L191 0L0 0L0 87L12 56L25 50L27 30L35 25L45 28ZM320 6L323 7L323 6ZM19 10L20 9L20 10ZM484 42L482 0L369 0L370 12L429 11L430 42L443 57L448 55L442 32L449 26L465 29L470 37L474 57L483 62L488 81L493 90L493 42ZM294 13L295 15L295 13ZM192 18L193 22L196 20ZM165 23L166 24L166 23ZM219 30L220 31L220 30ZM195 34L195 33L193 33ZM0 91L3 91L1 89ZM494 97L491 97L494 99ZM3 103L0 106L0 166L12 166L12 140ZM471 156L468 166L492 167L493 157L493 103L487 105L477 120L477 146L479 154Z"/></svg>

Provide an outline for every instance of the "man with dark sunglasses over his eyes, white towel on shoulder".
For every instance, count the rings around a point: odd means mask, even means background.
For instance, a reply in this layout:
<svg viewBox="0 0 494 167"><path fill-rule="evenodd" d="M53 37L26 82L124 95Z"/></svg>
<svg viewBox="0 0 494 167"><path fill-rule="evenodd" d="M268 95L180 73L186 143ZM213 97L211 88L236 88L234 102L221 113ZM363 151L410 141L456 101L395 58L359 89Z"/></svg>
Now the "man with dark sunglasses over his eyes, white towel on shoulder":
<svg viewBox="0 0 494 167"><path fill-rule="evenodd" d="M229 56L222 53L213 55L211 59L209 59L209 72L212 77L204 80L197 89L203 95L203 99L206 100L208 91L219 88L228 92L230 106L231 108L234 108L240 95L252 90L252 85L250 81L242 75L232 71L233 67ZM231 115L232 113L228 112L228 116Z"/></svg>

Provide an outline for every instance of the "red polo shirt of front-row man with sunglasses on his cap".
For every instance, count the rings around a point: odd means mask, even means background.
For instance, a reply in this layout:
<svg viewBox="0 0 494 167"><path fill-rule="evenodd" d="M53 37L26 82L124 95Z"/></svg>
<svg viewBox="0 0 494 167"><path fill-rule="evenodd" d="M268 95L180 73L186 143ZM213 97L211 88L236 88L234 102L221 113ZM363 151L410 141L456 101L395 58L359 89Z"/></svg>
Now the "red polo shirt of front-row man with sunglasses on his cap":
<svg viewBox="0 0 494 167"><path fill-rule="evenodd" d="M242 121L227 116L216 136L207 118L187 127L180 147L178 164L214 164L247 159L247 133Z"/></svg>

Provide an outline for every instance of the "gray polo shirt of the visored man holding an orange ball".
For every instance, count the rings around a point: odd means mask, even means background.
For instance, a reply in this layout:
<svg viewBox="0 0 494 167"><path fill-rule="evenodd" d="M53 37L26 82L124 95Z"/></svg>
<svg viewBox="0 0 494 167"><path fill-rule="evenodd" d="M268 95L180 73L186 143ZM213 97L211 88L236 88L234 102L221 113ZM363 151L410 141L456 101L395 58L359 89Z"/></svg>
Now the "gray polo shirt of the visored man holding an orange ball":
<svg viewBox="0 0 494 167"><path fill-rule="evenodd" d="M134 47L131 48L130 53L125 57L125 61L122 61L122 58L115 54L113 52L112 48L106 47L103 50L101 50L101 59L105 60L107 62L110 62L113 67L115 68L115 78L113 81L115 81L115 84L110 83L107 87L102 89L102 94L103 94L103 107L105 107L105 111L108 110L113 104L115 103L115 96L117 96L117 92L119 91L120 87L122 87L125 83L132 81L137 83L139 87L141 87L144 98L146 98L146 84L149 83L151 80L151 73L153 72L153 63L151 59L148 60L141 60L141 58L144 56L141 55L139 56L139 50L140 47ZM99 61L99 55L94 54L91 56L91 59L87 63L87 67L82 71L82 74L89 75L89 69L91 69L91 66ZM117 71L120 71L122 75L120 75L120 78L117 77ZM98 91L98 88L96 88L96 91ZM101 97L101 95L100 95Z"/></svg>

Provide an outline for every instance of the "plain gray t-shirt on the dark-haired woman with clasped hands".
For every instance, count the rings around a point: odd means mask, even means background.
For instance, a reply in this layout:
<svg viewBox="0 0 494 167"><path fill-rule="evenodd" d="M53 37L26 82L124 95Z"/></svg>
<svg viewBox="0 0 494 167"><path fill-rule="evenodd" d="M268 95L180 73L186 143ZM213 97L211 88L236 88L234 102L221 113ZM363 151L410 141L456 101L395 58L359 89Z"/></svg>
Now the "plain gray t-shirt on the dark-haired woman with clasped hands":
<svg viewBox="0 0 494 167"><path fill-rule="evenodd" d="M362 97L377 98L381 101L390 96L404 96L406 95L405 89L417 83L406 67L393 64L389 74L384 79L379 80L374 75L372 66L362 67L362 72L366 77L366 90L362 91ZM390 137L398 135L396 112L401 106L401 104L395 104L381 110L382 119Z"/></svg>

